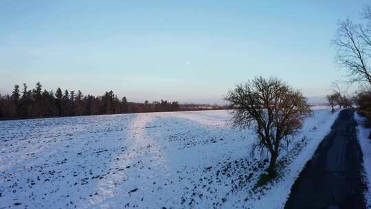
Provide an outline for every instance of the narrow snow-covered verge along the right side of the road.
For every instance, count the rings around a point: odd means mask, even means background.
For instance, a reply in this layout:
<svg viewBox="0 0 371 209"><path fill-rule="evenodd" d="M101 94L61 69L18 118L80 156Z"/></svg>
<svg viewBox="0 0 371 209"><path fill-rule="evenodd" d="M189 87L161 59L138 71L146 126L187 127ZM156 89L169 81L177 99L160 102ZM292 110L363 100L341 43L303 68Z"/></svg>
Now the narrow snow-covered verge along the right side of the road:
<svg viewBox="0 0 371 209"><path fill-rule="evenodd" d="M359 115L359 113L355 113L355 120L357 121L358 141L363 154L363 180L366 181L367 186L365 199L367 201L367 207L371 208L371 140L368 138L371 129L363 126L366 118Z"/></svg>

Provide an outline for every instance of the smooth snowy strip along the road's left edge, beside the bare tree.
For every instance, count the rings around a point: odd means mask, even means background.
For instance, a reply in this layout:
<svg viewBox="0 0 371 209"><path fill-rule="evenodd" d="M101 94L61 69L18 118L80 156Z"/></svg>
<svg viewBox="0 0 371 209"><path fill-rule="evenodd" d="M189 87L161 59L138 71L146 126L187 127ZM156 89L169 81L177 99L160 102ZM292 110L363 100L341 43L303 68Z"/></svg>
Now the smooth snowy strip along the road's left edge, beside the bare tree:
<svg viewBox="0 0 371 209"><path fill-rule="evenodd" d="M256 209L284 208L284 204L289 198L291 187L295 183L297 177L299 177L306 162L313 157L319 144L330 132L330 128L336 120L339 111L335 113L328 113L325 111L315 112L313 118L320 118L321 116L318 115L319 113L326 115L326 117L322 118L320 121L315 121L313 119L306 121L302 133L295 136L295 140L293 140L288 153L282 156L281 161L284 160L284 166L282 170L280 170L282 177L276 181L270 182L265 188L251 195L251 200L247 201L244 207ZM238 194L236 199L241 198L241 195L243 195L243 193ZM235 208L235 206L236 205L232 204L229 208Z"/></svg>

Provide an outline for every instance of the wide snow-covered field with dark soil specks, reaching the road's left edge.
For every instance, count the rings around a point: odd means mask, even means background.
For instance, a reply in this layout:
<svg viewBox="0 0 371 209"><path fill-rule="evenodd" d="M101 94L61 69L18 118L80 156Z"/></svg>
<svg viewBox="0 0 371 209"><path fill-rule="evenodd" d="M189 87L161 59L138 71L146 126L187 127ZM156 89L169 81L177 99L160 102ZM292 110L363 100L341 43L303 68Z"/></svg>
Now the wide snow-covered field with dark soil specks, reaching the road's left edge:
<svg viewBox="0 0 371 209"><path fill-rule="evenodd" d="M282 208L337 113L315 109L254 188L267 156L227 111L0 122L0 208Z"/></svg>

